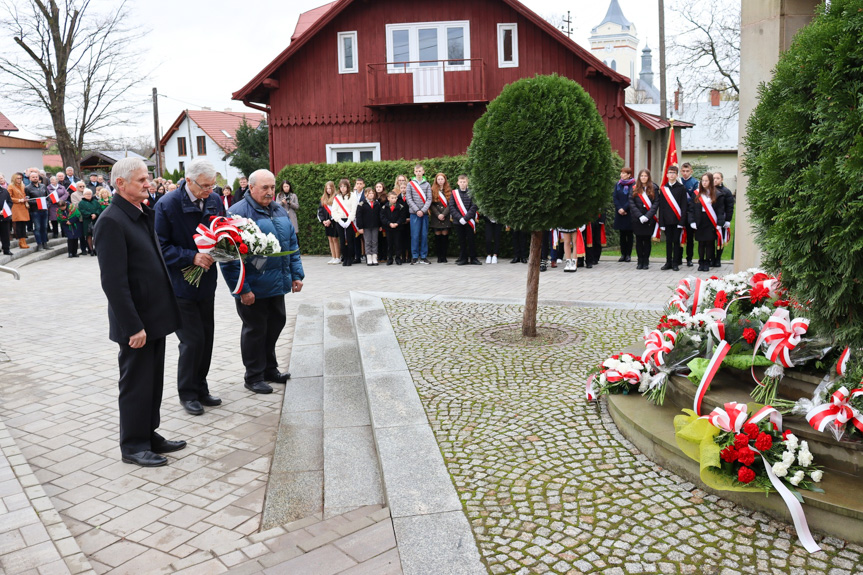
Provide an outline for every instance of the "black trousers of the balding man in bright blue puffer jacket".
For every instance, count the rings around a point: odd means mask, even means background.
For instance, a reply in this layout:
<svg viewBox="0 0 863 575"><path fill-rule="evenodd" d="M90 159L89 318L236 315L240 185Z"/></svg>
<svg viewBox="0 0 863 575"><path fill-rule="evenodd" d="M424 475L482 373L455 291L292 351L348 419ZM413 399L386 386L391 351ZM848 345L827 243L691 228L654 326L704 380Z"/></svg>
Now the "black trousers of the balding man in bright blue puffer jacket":
<svg viewBox="0 0 863 575"><path fill-rule="evenodd" d="M246 366L246 383L264 381L265 374L274 374L279 370L276 342L286 322L285 296L256 298L252 305L243 305L237 298L234 303L243 321L240 353Z"/></svg>

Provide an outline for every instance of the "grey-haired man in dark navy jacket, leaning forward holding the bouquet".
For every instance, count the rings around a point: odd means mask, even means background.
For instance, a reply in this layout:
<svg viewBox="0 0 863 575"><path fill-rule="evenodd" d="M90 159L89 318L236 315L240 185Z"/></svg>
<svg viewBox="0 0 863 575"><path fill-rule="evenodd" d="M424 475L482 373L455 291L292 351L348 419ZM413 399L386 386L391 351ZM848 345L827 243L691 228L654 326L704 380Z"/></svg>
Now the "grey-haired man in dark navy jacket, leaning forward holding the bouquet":
<svg viewBox="0 0 863 575"><path fill-rule="evenodd" d="M209 225L212 218L223 215L222 202L213 193L215 183L213 165L207 160L193 160L186 167L186 178L180 187L166 194L155 208L156 233L182 319L182 327L177 330L180 340L177 394L180 405L192 415L204 413L204 406L222 403L210 394L207 384L213 356L214 303L219 274L213 266L213 258L199 252L194 239L198 224ZM183 268L189 266L204 270L197 286L183 278Z"/></svg>

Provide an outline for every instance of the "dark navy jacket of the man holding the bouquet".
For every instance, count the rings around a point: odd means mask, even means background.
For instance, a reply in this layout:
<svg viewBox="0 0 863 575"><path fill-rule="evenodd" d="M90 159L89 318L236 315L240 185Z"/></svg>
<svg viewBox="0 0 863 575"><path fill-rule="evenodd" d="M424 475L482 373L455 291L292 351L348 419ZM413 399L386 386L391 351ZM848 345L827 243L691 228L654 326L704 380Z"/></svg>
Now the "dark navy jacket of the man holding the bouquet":
<svg viewBox="0 0 863 575"><path fill-rule="evenodd" d="M204 200L203 212L189 199L185 183L165 194L158 201L156 212L156 235L162 248L162 256L168 266L168 274L177 297L201 301L216 296L219 272L210 266L201 275L198 287L183 278L183 268L194 265L198 248L195 245L195 230L198 224L209 225L215 216L224 215L221 198L211 192Z"/></svg>

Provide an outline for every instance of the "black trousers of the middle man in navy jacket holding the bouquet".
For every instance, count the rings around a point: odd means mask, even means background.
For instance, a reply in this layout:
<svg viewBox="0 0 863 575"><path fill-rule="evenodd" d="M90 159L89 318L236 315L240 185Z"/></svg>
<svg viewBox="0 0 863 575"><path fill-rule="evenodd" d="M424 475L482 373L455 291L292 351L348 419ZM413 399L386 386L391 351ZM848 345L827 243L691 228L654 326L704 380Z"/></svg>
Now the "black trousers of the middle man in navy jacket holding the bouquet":
<svg viewBox="0 0 863 575"><path fill-rule="evenodd" d="M210 394L207 374L213 358L213 313L215 297L195 301L177 298L180 308L180 357L177 360L177 395L180 401L194 401Z"/></svg>

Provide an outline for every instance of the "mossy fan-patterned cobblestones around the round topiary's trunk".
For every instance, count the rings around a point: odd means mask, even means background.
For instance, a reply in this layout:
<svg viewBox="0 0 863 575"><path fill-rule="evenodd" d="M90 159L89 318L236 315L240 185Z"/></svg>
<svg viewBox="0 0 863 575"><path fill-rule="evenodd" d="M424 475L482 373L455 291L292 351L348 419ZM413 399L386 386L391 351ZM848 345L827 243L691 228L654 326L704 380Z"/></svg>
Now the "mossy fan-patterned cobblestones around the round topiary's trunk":
<svg viewBox="0 0 863 575"><path fill-rule="evenodd" d="M655 313L542 307L579 339L525 349L476 335L520 324L520 306L385 304L491 573L863 571L863 548L826 538L809 555L789 525L655 465L585 402L589 366Z"/></svg>

